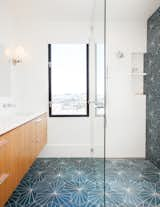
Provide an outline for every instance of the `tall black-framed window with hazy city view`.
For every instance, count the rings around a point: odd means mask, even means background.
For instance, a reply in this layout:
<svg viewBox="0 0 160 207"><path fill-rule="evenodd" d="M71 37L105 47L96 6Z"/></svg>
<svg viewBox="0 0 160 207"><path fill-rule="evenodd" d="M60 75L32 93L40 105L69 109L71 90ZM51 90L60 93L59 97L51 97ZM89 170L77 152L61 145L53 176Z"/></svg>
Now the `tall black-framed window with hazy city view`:
<svg viewBox="0 0 160 207"><path fill-rule="evenodd" d="M89 116L88 44L49 44L49 114Z"/></svg>

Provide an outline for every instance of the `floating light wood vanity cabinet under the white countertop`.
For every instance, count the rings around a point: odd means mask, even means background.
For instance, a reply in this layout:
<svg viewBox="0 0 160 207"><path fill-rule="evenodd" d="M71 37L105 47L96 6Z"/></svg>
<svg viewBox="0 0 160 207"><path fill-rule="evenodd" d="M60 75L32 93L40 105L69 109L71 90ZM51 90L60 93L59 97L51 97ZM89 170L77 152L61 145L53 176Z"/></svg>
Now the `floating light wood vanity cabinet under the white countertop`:
<svg viewBox="0 0 160 207"><path fill-rule="evenodd" d="M46 142L46 114L0 136L0 207L5 205Z"/></svg>

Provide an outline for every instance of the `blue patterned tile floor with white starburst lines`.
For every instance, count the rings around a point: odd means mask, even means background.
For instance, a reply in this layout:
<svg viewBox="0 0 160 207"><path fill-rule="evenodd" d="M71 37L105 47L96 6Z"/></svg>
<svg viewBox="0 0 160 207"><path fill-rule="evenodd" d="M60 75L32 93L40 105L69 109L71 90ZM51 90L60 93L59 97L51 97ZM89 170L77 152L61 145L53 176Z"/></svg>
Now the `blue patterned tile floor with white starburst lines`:
<svg viewBox="0 0 160 207"><path fill-rule="evenodd" d="M106 207L160 207L160 170L106 160ZM37 159L5 207L104 207L104 160Z"/></svg>

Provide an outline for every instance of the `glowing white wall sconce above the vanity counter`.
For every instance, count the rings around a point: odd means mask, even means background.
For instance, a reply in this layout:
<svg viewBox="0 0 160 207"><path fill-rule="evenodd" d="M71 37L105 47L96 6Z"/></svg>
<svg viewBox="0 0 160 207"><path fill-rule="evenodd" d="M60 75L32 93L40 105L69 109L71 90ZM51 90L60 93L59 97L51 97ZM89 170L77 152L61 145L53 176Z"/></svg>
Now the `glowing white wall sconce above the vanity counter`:
<svg viewBox="0 0 160 207"><path fill-rule="evenodd" d="M22 63L24 57L26 56L24 48L22 46L18 46L15 50L11 51L11 49L7 48L5 50L5 55L11 60L13 65L17 65L18 63Z"/></svg>

